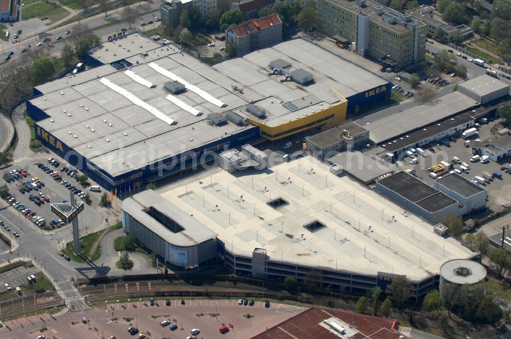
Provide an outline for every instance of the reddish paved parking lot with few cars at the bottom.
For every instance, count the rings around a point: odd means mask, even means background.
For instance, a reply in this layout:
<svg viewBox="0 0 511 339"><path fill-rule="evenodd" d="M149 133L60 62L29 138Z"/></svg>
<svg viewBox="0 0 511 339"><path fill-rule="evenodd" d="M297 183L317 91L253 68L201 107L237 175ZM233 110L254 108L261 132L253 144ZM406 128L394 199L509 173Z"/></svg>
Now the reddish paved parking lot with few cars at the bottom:
<svg viewBox="0 0 511 339"><path fill-rule="evenodd" d="M117 336L118 339L134 338L130 335L129 326L138 327L138 333L145 333L148 337L185 338L194 328L200 333L194 337L218 338L220 336L248 338L278 324L289 317L303 311L298 306L271 304L264 307L263 302L256 302L254 306L238 305L238 300L190 300L186 299L181 305L179 300L172 300L171 306L166 306L164 300L157 300L155 306L145 302L115 303L108 305L105 310L85 310L83 312L67 312L61 317L50 319L48 315L20 318L8 321L6 327L9 334L16 338L33 336L34 329L47 328L44 335L63 339L65 333L73 333L73 338L85 339L90 337ZM250 314L248 317L247 314ZM41 320L42 318L42 320ZM90 322L83 324L83 319ZM170 330L170 325L160 326L163 320L169 320L171 325L176 324L177 329ZM221 326L229 326L229 331L219 333ZM5 329L3 330L5 331ZM150 335L149 335L149 333ZM0 335L1 335L0 331ZM41 333L37 333L41 334Z"/></svg>

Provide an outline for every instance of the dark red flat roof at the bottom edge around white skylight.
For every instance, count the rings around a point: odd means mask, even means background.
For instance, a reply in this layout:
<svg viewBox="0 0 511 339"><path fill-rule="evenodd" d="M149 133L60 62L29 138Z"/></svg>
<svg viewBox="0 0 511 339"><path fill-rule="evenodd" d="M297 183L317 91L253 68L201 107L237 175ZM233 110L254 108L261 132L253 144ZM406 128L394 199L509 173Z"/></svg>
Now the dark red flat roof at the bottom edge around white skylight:
<svg viewBox="0 0 511 339"><path fill-rule="evenodd" d="M396 326L396 321L393 319L365 316L364 314L328 308L311 307L253 338L339 339L336 334L319 325L323 320L331 317L351 324L358 330L358 333L351 336L351 339L363 339L369 336L371 339L398 339L400 335L402 335L394 328ZM404 335L403 337L406 338Z"/></svg>

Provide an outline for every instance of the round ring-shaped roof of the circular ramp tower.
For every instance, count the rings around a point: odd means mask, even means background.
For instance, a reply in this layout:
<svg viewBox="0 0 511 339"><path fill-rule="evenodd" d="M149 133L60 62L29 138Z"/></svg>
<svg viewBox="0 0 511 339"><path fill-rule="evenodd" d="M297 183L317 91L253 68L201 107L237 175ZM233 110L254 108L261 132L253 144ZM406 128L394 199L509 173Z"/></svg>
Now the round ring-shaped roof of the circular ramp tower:
<svg viewBox="0 0 511 339"><path fill-rule="evenodd" d="M459 269L468 269L470 274L460 275ZM467 271L462 271L467 274ZM440 275L455 284L475 284L486 277L486 269L477 261L467 259L449 260L440 268Z"/></svg>

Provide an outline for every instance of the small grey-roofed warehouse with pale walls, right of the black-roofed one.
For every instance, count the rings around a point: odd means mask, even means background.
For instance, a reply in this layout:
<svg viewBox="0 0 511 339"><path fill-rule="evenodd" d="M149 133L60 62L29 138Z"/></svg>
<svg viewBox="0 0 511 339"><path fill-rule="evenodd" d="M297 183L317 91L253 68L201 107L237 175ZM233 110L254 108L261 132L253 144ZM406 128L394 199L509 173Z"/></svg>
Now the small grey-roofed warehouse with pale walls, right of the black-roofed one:
<svg viewBox="0 0 511 339"><path fill-rule="evenodd" d="M463 205L461 214L486 208L486 190L470 180L452 173L435 180L433 187Z"/></svg>

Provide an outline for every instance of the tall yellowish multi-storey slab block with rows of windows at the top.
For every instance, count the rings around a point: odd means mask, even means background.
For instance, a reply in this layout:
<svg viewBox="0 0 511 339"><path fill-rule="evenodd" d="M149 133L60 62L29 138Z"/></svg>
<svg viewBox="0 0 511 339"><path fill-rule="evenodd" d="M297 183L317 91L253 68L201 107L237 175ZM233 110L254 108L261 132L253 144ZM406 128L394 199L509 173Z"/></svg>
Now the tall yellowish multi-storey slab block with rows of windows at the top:
<svg viewBox="0 0 511 339"><path fill-rule="evenodd" d="M318 0L319 30L354 43L361 56L405 66L424 60L426 25L371 0Z"/></svg>

